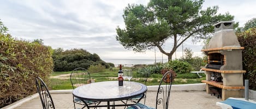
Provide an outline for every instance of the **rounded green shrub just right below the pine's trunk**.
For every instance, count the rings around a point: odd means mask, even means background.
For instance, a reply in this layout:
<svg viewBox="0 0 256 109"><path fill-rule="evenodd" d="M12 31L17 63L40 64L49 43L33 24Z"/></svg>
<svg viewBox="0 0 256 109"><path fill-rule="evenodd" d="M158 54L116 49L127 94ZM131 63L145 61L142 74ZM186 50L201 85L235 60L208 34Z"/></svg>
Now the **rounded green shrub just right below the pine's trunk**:
<svg viewBox="0 0 256 109"><path fill-rule="evenodd" d="M174 60L166 63L168 69L174 70L177 74L189 73L192 70L192 66L188 62Z"/></svg>

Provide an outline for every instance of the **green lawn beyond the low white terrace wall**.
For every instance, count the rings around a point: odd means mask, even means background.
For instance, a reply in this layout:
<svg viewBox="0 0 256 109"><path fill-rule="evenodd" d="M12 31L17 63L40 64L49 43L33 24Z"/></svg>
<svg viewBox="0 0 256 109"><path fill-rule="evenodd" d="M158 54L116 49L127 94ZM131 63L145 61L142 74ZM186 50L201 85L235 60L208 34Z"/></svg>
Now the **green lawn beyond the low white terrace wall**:
<svg viewBox="0 0 256 109"><path fill-rule="evenodd" d="M118 69L106 69L104 72L99 73L93 73L91 74L91 77L95 79L95 82L100 81L114 81L117 80L117 72ZM61 75L61 74L70 74L71 72L53 72L51 76ZM137 78L136 72L134 71L134 77L132 81L136 81ZM195 83L201 83L201 80L205 80L205 75L203 75L203 78L198 78L197 74L193 73L186 73L186 74L177 74L175 81L173 82L174 85L178 84L195 84ZM110 78L108 78L110 77ZM115 78L116 77L116 78ZM150 78L147 81L147 85L159 85L159 81L162 78L162 74L152 74ZM49 86L51 89L57 90L57 89L73 89L70 79L51 79L51 83Z"/></svg>

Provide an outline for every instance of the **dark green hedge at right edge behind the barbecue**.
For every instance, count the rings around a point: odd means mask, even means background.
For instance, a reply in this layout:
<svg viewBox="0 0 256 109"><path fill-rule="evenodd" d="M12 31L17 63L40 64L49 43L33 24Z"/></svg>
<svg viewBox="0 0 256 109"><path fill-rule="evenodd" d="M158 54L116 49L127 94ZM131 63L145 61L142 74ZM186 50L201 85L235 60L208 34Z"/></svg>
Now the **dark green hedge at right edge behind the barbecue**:
<svg viewBox="0 0 256 109"><path fill-rule="evenodd" d="M247 73L244 79L249 80L249 88L256 90L256 28L248 29L242 33L237 33L237 38L242 47L243 69Z"/></svg>

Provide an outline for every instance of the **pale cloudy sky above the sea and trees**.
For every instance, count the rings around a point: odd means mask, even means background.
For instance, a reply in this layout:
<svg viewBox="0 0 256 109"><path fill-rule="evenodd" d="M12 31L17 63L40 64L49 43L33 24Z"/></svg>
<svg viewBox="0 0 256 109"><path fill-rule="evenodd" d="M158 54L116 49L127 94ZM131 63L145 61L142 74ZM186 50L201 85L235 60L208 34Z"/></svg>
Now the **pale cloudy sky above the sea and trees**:
<svg viewBox="0 0 256 109"><path fill-rule="evenodd" d="M124 28L123 9L129 4L144 4L139 0L0 0L0 19L8 33L17 39L33 41L43 40L46 46L53 49L72 48L86 49L98 54L102 59L152 59L154 49L136 53L124 49L116 41L116 27ZM206 0L203 9L218 5L218 14L229 12L239 27L256 17L256 1ZM193 56L202 56L202 42L193 43L190 39L183 43L183 48L190 48ZM172 41L167 40L163 48L170 52ZM157 58L162 53L156 48ZM179 47L173 59L182 56ZM163 55L164 59L167 56Z"/></svg>

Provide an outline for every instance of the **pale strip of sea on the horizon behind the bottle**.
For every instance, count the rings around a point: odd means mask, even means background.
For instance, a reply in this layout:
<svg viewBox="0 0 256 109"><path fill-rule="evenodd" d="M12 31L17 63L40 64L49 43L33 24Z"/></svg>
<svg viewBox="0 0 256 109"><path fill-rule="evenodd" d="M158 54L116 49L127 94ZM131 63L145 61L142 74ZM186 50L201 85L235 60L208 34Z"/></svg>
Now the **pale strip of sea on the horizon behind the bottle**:
<svg viewBox="0 0 256 109"><path fill-rule="evenodd" d="M102 59L105 62L114 63L114 65L152 65L155 62L167 62L168 59Z"/></svg>

